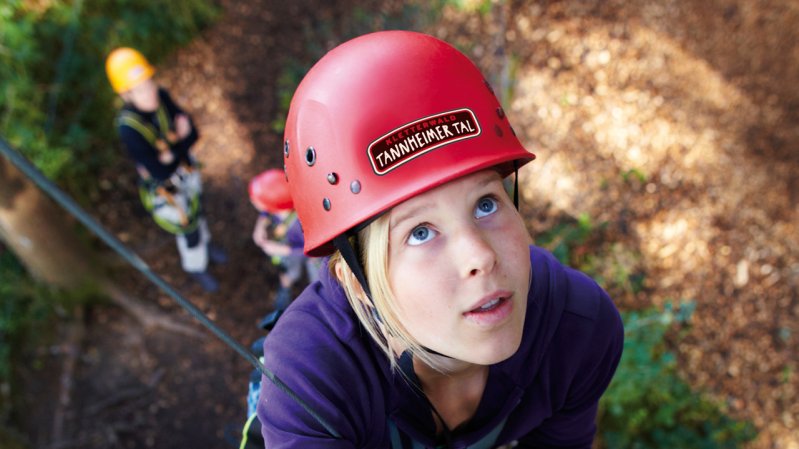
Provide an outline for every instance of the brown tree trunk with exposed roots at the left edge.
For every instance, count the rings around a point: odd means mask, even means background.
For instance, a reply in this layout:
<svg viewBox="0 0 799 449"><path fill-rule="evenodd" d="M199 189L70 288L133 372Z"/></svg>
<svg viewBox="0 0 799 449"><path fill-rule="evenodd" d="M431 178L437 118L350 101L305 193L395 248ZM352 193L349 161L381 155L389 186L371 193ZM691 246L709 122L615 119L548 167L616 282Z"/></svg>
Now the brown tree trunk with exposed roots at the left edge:
<svg viewBox="0 0 799 449"><path fill-rule="evenodd" d="M160 327L204 337L191 326L173 321L120 290L104 270L93 264L101 258L79 237L76 224L14 164L0 157L0 240L16 254L31 276L65 290L94 286L134 315L145 328ZM79 307L74 319L62 323L66 331L59 341L65 357L53 412L51 438L55 446L69 440L64 423L71 407L73 377L84 336L82 316L83 309Z"/></svg>

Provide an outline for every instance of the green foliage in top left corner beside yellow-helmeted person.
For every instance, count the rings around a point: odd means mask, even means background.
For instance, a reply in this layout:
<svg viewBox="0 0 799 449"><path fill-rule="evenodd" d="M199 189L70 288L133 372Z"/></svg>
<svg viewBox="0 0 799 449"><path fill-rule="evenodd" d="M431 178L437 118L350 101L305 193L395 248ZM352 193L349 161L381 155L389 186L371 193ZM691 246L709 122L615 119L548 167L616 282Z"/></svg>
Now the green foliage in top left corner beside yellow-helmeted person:
<svg viewBox="0 0 799 449"><path fill-rule="evenodd" d="M219 12L210 0L7 0L0 4L0 135L78 198L118 145L105 57L157 62Z"/></svg>

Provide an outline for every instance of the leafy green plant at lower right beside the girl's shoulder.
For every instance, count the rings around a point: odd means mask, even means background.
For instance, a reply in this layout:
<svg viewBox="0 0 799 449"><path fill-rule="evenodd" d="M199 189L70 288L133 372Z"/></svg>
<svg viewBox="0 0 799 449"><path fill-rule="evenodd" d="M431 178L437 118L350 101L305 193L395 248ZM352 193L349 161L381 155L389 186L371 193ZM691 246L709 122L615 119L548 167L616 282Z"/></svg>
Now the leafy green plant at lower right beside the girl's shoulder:
<svg viewBox="0 0 799 449"><path fill-rule="evenodd" d="M601 402L605 447L734 449L756 436L751 423L733 420L723 403L693 391L678 375L666 333L692 312L688 302L677 310L623 314L624 354Z"/></svg>

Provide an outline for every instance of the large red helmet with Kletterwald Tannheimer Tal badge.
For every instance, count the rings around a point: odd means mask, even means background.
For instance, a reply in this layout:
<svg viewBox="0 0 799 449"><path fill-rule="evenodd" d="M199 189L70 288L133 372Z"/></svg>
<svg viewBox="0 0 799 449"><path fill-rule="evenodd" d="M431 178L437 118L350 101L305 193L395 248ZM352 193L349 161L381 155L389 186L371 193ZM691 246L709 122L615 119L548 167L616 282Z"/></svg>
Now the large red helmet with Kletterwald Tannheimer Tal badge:
<svg viewBox="0 0 799 449"><path fill-rule="evenodd" d="M305 253L421 192L535 158L489 84L451 45L409 31L367 34L331 50L300 83L283 158Z"/></svg>

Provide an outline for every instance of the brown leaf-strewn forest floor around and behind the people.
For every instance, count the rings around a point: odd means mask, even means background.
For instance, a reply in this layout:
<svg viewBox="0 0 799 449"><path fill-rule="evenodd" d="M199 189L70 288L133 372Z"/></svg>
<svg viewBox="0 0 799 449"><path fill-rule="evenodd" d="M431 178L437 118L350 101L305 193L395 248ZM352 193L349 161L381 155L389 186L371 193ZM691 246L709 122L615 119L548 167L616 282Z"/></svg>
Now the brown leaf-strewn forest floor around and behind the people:
<svg viewBox="0 0 799 449"><path fill-rule="evenodd" d="M281 74L355 33L412 26L464 49L495 87L513 80L506 109L538 155L522 177L533 234L581 214L607 222L588 250L645 279L642 293L612 292L620 308L696 301L676 348L683 374L755 423L749 448L799 448L799 3L513 1L428 23L393 1L222 4L221 21L157 75L203 136L207 215L230 256L212 268L220 292L180 271L127 162L100 180L94 212L235 339L260 335L277 285L250 240L247 182L280 164ZM120 285L193 323L138 274ZM146 331L115 308L91 310L86 325L59 447L236 447L245 360L210 334ZM38 435L45 447L49 433Z"/></svg>

